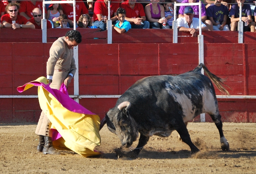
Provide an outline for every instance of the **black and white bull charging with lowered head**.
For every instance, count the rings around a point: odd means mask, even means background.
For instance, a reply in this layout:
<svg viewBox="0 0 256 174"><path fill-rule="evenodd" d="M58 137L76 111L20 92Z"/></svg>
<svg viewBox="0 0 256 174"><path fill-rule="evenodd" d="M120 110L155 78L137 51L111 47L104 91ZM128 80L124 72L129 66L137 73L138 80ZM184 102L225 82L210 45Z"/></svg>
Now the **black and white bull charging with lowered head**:
<svg viewBox="0 0 256 174"><path fill-rule="evenodd" d="M202 68L208 77L201 73ZM176 130L193 154L199 149L191 141L186 125L201 113L208 113L220 133L222 150L228 151L229 144L223 134L218 102L210 79L222 93L229 95L222 86L223 79L211 73L203 63L193 71L180 75L140 79L106 113L100 129L107 123L108 129L118 136L126 148L132 145L140 132L138 146L131 152L133 157L138 156L150 136L168 137Z"/></svg>

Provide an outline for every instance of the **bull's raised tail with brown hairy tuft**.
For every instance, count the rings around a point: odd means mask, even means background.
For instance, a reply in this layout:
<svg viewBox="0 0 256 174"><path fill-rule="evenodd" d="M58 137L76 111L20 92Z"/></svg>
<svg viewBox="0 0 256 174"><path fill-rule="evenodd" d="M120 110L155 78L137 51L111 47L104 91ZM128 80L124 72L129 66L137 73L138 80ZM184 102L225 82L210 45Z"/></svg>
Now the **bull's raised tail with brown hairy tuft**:
<svg viewBox="0 0 256 174"><path fill-rule="evenodd" d="M214 75L213 73L211 73L208 68L204 65L204 63L200 63L198 65L198 67L196 67L193 71L197 72L197 73L201 73L201 69L204 69L204 72L206 73L206 75L208 75L208 77L210 77L210 79L212 80L212 82L218 87L218 89L226 95L230 95L229 92L222 86L225 85L223 82L225 81L225 79L221 79L220 77L217 77L216 75ZM227 86L227 85L225 85ZM228 86L227 86L228 87ZM230 87L228 87L230 88Z"/></svg>

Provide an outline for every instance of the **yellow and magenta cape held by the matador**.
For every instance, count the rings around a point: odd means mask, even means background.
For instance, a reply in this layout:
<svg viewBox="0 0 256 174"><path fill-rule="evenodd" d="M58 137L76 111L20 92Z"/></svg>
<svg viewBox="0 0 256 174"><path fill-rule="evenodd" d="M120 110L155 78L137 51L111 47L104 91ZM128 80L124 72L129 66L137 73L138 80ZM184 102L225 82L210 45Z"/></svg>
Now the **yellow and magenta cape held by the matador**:
<svg viewBox="0 0 256 174"><path fill-rule="evenodd" d="M100 154L94 150L100 146L100 117L65 93L51 89L45 77L26 83L17 90L21 93L33 86L38 86L40 107L52 123L54 148L72 150L84 157Z"/></svg>

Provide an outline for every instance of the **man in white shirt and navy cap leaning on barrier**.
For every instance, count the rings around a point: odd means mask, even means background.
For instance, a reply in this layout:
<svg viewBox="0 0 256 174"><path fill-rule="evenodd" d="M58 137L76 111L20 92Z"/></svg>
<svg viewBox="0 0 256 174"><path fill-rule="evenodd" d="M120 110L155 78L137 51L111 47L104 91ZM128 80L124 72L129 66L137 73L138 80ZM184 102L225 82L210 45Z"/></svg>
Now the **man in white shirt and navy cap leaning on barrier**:
<svg viewBox="0 0 256 174"><path fill-rule="evenodd" d="M184 17L178 18L178 31L190 32L192 37L196 37L196 32L199 32L200 23L198 18L194 18L194 10L192 7L187 6L184 9ZM206 25L201 22L202 31L207 31Z"/></svg>

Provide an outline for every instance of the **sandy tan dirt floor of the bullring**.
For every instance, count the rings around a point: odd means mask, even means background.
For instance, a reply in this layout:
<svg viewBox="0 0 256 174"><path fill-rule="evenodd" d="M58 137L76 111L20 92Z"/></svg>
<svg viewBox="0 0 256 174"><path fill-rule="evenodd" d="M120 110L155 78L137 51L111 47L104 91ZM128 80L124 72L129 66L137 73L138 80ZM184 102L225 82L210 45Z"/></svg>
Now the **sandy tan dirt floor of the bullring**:
<svg viewBox="0 0 256 174"><path fill-rule="evenodd" d="M174 131L168 138L150 137L138 158L121 157L135 148L121 148L118 137L106 125L100 131L102 144L96 150L103 154L84 158L74 152L61 151L59 156L36 152L36 124L0 124L0 173L22 174L159 174L159 173L225 173L256 171L256 123L223 123L230 151L220 148L220 137L214 123L189 123L192 142L201 150L191 155L190 148L178 140ZM119 153L118 153L119 154Z"/></svg>

